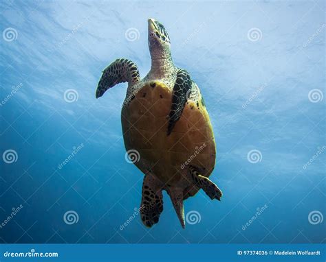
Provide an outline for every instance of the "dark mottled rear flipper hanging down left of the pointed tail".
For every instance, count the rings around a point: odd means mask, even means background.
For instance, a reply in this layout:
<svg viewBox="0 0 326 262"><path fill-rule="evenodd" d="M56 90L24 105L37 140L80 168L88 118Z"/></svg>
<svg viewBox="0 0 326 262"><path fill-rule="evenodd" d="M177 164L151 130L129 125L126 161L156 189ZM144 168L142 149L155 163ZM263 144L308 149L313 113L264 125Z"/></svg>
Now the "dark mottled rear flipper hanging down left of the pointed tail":
<svg viewBox="0 0 326 262"><path fill-rule="evenodd" d="M142 204L140 205L142 223L150 228L158 222L162 211L162 183L151 174L146 174L142 184Z"/></svg>

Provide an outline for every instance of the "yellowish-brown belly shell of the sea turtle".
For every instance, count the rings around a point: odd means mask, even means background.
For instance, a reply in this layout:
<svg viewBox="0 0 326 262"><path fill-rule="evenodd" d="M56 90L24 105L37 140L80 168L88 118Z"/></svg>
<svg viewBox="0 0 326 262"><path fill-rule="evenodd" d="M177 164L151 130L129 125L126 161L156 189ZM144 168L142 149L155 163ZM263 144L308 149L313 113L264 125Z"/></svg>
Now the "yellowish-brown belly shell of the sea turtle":
<svg viewBox="0 0 326 262"><path fill-rule="evenodd" d="M198 167L210 176L215 166L215 139L204 100L187 102L182 116L168 136L168 115L172 91L162 82L151 82L135 94L122 108L122 132L127 152L137 150L135 165L144 173L151 172L167 186L180 186L188 165ZM184 180L183 180L184 181ZM194 195L191 183L184 190ZM192 192L191 192L191 189Z"/></svg>

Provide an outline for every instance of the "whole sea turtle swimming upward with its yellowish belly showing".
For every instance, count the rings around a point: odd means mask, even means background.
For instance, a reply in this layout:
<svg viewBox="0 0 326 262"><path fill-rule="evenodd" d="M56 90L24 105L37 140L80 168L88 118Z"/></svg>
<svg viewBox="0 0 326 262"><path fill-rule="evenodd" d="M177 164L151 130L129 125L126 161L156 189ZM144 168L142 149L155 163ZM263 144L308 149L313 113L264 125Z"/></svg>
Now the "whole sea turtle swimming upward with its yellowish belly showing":
<svg viewBox="0 0 326 262"><path fill-rule="evenodd" d="M184 228L184 200L199 189L212 200L221 198L221 190L208 179L215 166L215 139L197 84L172 61L164 25L155 19L148 23L149 73L141 80L134 62L117 59L102 72L96 98L128 82L121 122L127 153L144 173L142 222L147 227L158 222L165 190Z"/></svg>

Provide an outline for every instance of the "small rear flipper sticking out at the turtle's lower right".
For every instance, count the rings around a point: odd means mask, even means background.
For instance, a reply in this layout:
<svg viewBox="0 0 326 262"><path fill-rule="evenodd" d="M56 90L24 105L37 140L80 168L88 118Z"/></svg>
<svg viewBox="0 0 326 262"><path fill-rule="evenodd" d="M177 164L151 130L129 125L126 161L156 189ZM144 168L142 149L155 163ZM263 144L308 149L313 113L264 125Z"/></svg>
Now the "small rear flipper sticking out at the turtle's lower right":
<svg viewBox="0 0 326 262"><path fill-rule="evenodd" d="M203 189L211 200L216 198L217 200L221 201L222 191L216 184L210 181L209 178L206 178L206 176L199 174L197 169L193 166L189 166L189 171L191 173L191 178L193 178L193 182L197 187Z"/></svg>

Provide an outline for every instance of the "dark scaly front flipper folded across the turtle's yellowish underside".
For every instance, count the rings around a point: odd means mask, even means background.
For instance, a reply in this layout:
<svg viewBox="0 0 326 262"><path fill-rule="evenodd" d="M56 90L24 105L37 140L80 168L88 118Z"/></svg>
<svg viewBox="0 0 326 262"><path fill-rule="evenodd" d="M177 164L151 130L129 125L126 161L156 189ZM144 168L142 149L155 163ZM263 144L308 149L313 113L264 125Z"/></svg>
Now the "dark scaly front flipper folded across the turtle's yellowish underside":
<svg viewBox="0 0 326 262"><path fill-rule="evenodd" d="M177 71L177 80L173 86L172 105L169 114L168 136L171 134L175 123L180 119L184 105L186 104L187 92L191 89L191 77L184 69Z"/></svg>

